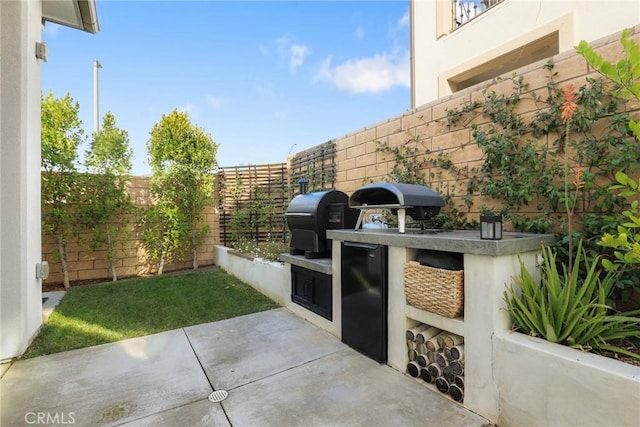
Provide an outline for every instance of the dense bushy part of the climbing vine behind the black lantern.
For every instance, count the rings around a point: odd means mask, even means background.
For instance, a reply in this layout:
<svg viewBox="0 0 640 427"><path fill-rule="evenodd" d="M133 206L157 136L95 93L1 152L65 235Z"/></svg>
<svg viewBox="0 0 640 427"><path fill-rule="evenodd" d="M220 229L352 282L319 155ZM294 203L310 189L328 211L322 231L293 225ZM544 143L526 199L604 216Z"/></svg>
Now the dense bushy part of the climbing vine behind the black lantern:
<svg viewBox="0 0 640 427"><path fill-rule="evenodd" d="M635 171L640 166L637 138L629 131L625 100L615 96L601 79L587 79L577 91L578 108L566 138L562 124L562 89L554 81L553 64L545 93L527 92L522 76L511 78L512 91L497 94L483 91L477 102L448 113L450 128L464 125L469 117L483 116L486 125L472 124L471 135L482 148L484 161L474 177L481 195L501 203L502 213L516 230L551 232L563 225L562 206L565 179L562 159L567 150L569 173L580 173L577 212L584 234L601 234L610 227L607 215L619 211L624 199L607 191L620 168ZM536 110L525 120L519 106L527 97ZM576 191L577 190L577 191ZM535 206L538 215L524 215L524 207Z"/></svg>

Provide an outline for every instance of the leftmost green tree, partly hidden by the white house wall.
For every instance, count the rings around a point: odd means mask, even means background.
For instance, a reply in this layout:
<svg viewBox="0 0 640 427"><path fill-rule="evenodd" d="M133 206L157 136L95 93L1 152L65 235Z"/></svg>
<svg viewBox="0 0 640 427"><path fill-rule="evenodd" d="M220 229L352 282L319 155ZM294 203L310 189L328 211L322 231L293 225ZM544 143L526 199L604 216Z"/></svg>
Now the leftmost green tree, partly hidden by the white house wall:
<svg viewBox="0 0 640 427"><path fill-rule="evenodd" d="M41 95L42 221L43 231L55 236L64 286L69 288L67 241L74 234L79 189L76 159L84 138L78 118L80 105L67 93L56 98Z"/></svg>

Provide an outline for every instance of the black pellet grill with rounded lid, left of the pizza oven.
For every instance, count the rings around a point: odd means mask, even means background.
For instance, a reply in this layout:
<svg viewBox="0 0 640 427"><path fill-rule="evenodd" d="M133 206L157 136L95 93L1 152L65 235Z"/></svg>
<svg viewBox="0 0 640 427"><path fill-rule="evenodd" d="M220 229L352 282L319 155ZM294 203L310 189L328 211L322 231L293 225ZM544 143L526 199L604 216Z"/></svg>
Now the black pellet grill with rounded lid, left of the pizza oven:
<svg viewBox="0 0 640 427"><path fill-rule="evenodd" d="M342 191L299 194L287 208L287 225L291 230L289 253L309 259L330 257L327 230L353 228L357 220L358 210L349 207L349 197Z"/></svg>

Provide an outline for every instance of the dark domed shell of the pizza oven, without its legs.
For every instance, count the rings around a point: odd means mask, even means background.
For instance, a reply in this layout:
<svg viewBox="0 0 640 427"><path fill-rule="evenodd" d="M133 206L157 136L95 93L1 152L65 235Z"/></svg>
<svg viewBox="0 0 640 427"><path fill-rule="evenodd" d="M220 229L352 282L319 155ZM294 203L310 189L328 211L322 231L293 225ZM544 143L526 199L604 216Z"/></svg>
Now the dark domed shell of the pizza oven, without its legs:
<svg viewBox="0 0 640 427"><path fill-rule="evenodd" d="M349 198L349 207L362 208L442 207L442 196L429 187L416 184L380 182L357 189Z"/></svg>

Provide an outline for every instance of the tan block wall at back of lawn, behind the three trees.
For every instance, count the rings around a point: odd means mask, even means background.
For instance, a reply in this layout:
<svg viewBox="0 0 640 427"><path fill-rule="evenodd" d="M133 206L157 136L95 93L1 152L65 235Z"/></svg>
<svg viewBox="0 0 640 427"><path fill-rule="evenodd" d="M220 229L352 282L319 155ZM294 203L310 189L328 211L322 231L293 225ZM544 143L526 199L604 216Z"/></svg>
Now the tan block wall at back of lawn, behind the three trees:
<svg viewBox="0 0 640 427"><path fill-rule="evenodd" d="M149 177L134 177L129 183L129 194L137 207L144 208L151 203L151 191ZM116 263L116 274L119 277L152 274L157 271L157 263L149 260L148 254L142 245L134 228L135 218L130 218L128 232L124 240L118 242L122 249L122 258ZM198 263L200 266L213 265L213 245L219 241L219 220L214 207L210 206L204 212L205 223L209 226L209 234L198 250ZM69 263L69 280L90 280L110 278L109 264L106 260L105 250L90 251L86 242L90 239L89 230L78 233L76 240L67 244L67 256ZM57 258L57 243L52 235L45 235L42 245L42 256L49 261L51 274L45 284L60 283L63 280L61 264ZM165 265L164 271L174 271L191 268L191 254L186 254L185 261L173 262Z"/></svg>

